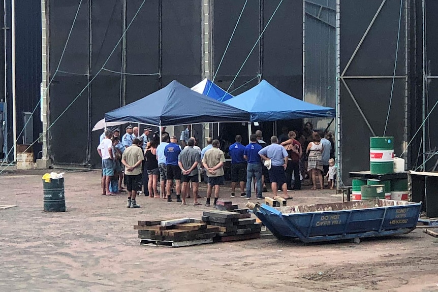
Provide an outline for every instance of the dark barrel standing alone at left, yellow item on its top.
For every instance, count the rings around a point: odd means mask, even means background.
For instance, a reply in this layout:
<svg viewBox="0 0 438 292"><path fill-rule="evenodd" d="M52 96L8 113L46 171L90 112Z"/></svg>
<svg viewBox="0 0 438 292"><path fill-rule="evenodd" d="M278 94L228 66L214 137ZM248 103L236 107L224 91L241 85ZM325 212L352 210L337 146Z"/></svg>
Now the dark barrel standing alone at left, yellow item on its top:
<svg viewBox="0 0 438 292"><path fill-rule="evenodd" d="M66 212L66 199L64 197L64 178L43 179L44 212Z"/></svg>

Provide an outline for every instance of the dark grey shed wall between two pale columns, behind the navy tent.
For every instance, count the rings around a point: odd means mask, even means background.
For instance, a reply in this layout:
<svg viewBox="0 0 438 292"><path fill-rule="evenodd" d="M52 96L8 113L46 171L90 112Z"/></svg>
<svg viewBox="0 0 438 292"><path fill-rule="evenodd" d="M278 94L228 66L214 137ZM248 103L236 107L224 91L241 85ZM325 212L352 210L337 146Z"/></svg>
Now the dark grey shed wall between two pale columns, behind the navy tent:
<svg viewBox="0 0 438 292"><path fill-rule="evenodd" d="M49 3L52 75L79 2L53 0ZM127 24L142 2L126 2ZM50 87L51 122L101 70L122 36L123 13L123 1L120 0L83 1L61 63L62 72L56 73ZM103 118L105 112L141 99L160 89L160 84L165 86L174 79L186 86L201 80L200 16L201 0L145 2L126 34L126 69L122 67L121 42L89 90L86 89L52 126L51 156L55 163L99 165L96 147L101 133L91 132L91 128ZM122 79L126 79L126 93L122 90Z"/></svg>

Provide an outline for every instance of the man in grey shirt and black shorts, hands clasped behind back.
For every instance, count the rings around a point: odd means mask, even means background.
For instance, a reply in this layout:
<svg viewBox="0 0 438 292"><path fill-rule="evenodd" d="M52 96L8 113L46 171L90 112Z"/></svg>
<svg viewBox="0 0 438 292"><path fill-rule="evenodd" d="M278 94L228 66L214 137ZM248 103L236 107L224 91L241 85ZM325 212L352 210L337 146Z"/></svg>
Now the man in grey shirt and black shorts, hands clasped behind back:
<svg viewBox="0 0 438 292"><path fill-rule="evenodd" d="M185 147L178 156L178 166L182 172L182 203L185 205L185 198L189 192L189 182L192 182L194 206L199 206L198 203L198 163L201 161L201 153L193 146L195 139L190 138Z"/></svg>

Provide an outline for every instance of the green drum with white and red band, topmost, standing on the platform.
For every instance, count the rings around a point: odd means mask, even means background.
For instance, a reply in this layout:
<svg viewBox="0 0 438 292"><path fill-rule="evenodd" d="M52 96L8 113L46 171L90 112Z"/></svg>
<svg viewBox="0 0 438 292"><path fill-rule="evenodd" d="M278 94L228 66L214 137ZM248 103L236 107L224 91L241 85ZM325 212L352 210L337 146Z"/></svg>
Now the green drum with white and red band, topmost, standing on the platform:
<svg viewBox="0 0 438 292"><path fill-rule="evenodd" d="M394 137L369 138L369 170L372 174L394 173Z"/></svg>

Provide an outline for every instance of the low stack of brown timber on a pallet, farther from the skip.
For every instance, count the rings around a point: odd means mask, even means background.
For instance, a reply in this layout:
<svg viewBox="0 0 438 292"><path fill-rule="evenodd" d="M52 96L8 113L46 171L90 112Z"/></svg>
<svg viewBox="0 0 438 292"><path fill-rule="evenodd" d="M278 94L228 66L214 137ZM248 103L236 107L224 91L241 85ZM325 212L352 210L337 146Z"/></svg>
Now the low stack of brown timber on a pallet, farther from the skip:
<svg viewBox="0 0 438 292"><path fill-rule="evenodd" d="M134 230L138 231L141 245L181 247L212 243L219 228L180 218L138 221Z"/></svg>

